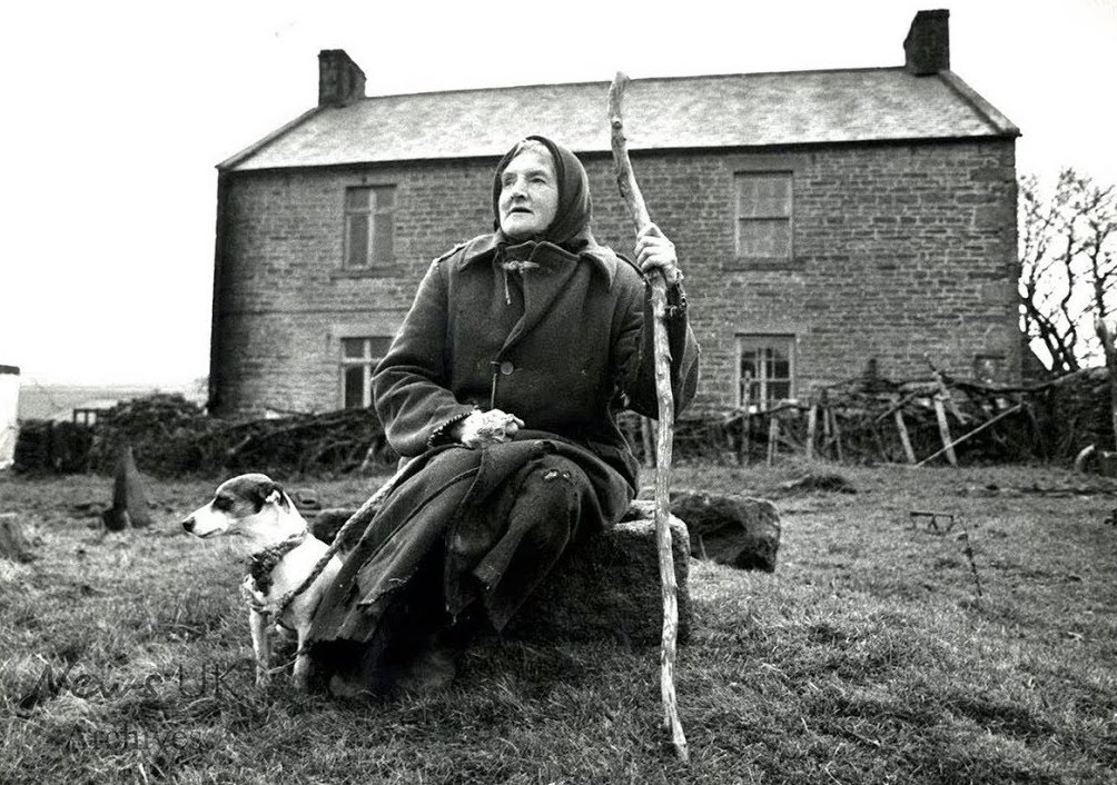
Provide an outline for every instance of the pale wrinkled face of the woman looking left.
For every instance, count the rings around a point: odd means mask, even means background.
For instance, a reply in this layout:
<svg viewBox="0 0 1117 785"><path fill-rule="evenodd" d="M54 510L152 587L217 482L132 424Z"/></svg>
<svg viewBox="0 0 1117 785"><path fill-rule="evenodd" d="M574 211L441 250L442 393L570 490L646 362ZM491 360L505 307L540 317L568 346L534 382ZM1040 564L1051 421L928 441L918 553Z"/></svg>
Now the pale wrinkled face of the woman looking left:
<svg viewBox="0 0 1117 785"><path fill-rule="evenodd" d="M522 150L500 173L500 229L512 240L543 233L558 212L558 179L542 145Z"/></svg>

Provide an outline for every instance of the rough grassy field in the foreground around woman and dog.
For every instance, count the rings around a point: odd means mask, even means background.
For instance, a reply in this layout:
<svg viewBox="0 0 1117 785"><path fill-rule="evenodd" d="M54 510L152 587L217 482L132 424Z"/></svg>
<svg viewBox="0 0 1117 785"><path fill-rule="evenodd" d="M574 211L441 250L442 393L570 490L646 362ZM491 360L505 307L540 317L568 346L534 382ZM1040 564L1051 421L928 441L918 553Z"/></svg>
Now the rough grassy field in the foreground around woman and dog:
<svg viewBox="0 0 1117 785"><path fill-rule="evenodd" d="M489 640L437 696L257 691L236 556L178 530L213 481L150 480L157 525L105 535L109 478L0 476L44 556L0 559L0 783L1117 781L1117 484L884 467L841 468L856 494L781 488L810 470L675 472L783 521L775 574L693 563L689 765L655 648ZM292 487L355 506L375 485Z"/></svg>

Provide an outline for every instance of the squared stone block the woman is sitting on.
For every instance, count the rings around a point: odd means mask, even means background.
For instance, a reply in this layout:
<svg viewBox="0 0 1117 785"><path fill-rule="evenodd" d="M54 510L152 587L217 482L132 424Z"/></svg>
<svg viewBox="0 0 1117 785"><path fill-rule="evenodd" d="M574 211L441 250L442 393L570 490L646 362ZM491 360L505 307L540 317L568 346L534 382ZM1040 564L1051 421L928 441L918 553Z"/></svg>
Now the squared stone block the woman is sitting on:
<svg viewBox="0 0 1117 785"><path fill-rule="evenodd" d="M649 502L633 502L611 532L566 554L517 612L507 633L546 641L618 639L658 644L663 597L652 516ZM682 643L693 625L687 588L690 538L686 524L674 516L670 523Z"/></svg>

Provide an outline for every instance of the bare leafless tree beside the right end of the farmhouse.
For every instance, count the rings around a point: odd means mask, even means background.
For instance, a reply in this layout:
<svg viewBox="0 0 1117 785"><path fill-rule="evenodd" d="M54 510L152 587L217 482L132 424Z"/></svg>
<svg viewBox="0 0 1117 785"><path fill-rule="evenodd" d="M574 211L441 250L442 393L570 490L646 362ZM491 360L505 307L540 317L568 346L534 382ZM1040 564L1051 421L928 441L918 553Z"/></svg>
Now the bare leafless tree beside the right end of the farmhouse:
<svg viewBox="0 0 1117 785"><path fill-rule="evenodd" d="M1020 182L1021 327L1051 357L1052 373L1099 358L1095 325L1117 312L1117 186L1072 169L1049 198Z"/></svg>

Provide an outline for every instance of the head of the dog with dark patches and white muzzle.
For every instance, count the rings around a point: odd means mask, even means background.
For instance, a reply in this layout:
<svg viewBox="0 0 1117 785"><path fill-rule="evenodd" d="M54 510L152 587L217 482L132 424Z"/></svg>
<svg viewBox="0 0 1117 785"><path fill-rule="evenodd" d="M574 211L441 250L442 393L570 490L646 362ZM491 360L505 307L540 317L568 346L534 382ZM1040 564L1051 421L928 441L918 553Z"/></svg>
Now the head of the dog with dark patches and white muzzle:
<svg viewBox="0 0 1117 785"><path fill-rule="evenodd" d="M305 528L283 486L267 475L240 475L218 486L213 500L182 521L195 537L244 535L252 539L283 539Z"/></svg>

